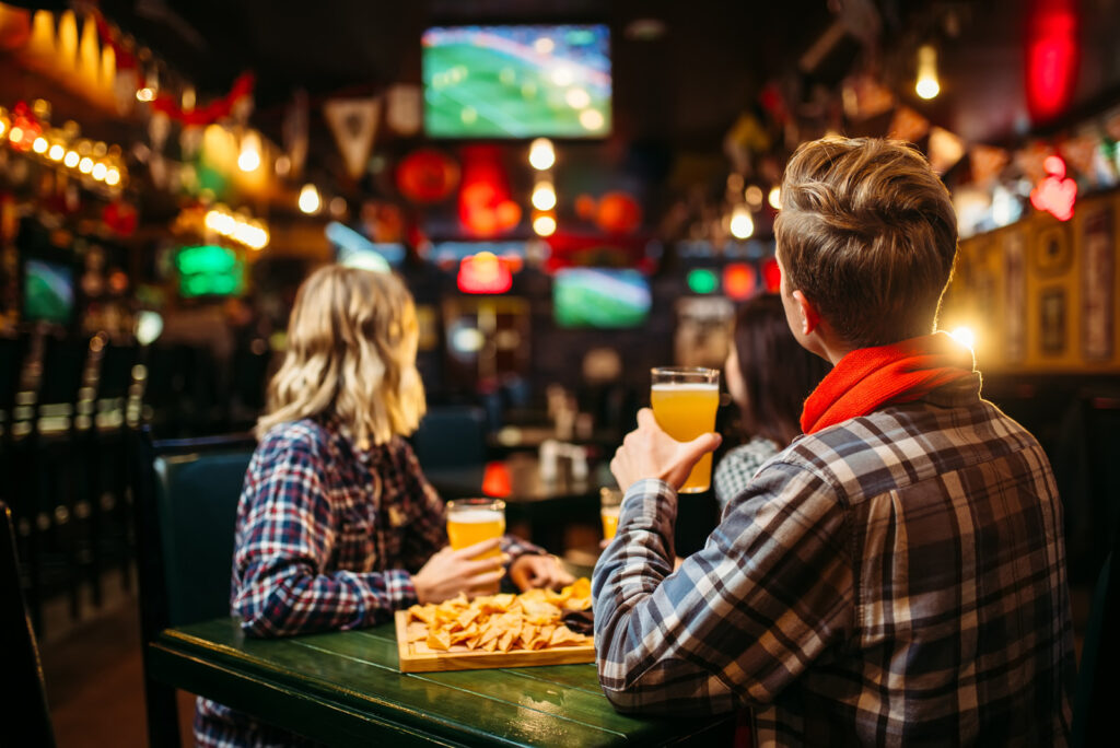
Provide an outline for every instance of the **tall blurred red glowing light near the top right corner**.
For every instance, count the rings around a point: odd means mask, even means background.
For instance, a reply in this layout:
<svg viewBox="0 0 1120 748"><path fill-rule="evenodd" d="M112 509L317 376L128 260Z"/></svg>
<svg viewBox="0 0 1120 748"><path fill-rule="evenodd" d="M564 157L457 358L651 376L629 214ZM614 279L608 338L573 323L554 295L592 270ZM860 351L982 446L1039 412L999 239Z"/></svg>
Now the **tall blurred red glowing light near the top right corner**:
<svg viewBox="0 0 1120 748"><path fill-rule="evenodd" d="M1081 63L1076 0L1033 0L1027 13L1027 110L1039 122L1073 100Z"/></svg>

